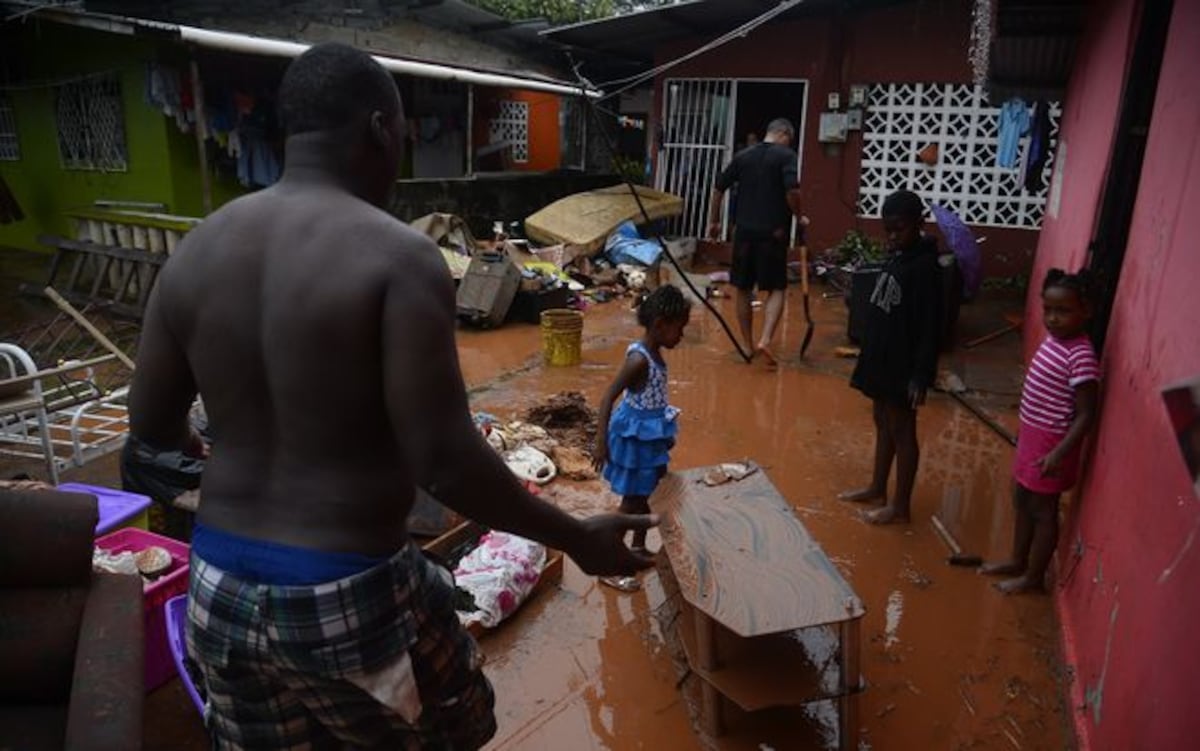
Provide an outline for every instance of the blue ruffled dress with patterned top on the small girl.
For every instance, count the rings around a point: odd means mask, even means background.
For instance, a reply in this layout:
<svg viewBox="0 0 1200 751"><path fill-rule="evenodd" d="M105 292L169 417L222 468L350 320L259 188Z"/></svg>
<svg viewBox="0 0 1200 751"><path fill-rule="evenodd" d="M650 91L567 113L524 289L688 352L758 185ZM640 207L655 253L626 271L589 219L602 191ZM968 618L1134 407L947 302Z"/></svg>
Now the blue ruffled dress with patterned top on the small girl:
<svg viewBox="0 0 1200 751"><path fill-rule="evenodd" d="M608 461L604 479L618 495L649 495L666 474L674 446L679 410L667 404L667 366L656 362L641 342L625 356L637 353L650 366L638 391L625 391L608 421Z"/></svg>

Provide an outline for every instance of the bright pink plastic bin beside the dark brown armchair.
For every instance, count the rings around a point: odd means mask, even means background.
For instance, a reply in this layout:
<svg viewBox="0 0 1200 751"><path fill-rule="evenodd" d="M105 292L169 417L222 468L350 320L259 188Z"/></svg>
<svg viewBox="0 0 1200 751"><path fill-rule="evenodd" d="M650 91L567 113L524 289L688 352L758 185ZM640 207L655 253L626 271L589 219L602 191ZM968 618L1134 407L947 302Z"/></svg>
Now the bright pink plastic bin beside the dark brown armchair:
<svg viewBox="0 0 1200 751"><path fill-rule="evenodd" d="M163 576L145 585L145 684L146 693L170 680L175 667L167 644L167 600L187 593L187 570L191 547L179 540L163 537L152 531L126 527L96 540L96 547L112 553L137 553L157 545L170 553L172 567Z"/></svg>

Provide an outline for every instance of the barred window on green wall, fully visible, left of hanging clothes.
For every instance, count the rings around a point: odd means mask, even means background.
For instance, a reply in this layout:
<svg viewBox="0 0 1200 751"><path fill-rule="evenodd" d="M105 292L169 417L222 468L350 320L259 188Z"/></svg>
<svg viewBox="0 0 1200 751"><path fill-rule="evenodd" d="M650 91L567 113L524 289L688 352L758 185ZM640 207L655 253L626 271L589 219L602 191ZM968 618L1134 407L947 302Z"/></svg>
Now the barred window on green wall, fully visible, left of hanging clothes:
<svg viewBox="0 0 1200 751"><path fill-rule="evenodd" d="M115 74L98 76L55 90L59 156L67 169L125 172L125 115Z"/></svg>

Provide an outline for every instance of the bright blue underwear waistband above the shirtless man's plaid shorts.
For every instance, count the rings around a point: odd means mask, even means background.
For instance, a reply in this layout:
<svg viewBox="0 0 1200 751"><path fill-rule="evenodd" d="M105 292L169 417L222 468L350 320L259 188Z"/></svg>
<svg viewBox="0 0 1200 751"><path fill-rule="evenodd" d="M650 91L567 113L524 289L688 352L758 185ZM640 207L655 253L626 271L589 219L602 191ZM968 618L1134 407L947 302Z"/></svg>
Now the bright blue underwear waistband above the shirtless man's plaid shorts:
<svg viewBox="0 0 1200 751"><path fill-rule="evenodd" d="M331 553L253 540L199 522L192 529L192 552L240 579L281 587L335 582L388 560L361 553Z"/></svg>

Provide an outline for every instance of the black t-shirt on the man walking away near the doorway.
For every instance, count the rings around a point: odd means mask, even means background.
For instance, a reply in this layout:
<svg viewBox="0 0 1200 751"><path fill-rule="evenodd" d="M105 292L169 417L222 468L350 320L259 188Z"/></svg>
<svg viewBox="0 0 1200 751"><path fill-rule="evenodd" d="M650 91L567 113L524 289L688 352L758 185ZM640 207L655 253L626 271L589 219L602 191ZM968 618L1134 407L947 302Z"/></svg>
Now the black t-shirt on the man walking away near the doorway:
<svg viewBox="0 0 1200 751"><path fill-rule="evenodd" d="M779 144L743 149L716 178L716 190L738 186L733 223L738 232L769 235L792 221L787 191L797 186L796 152Z"/></svg>

